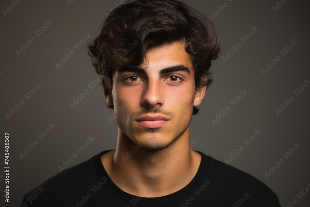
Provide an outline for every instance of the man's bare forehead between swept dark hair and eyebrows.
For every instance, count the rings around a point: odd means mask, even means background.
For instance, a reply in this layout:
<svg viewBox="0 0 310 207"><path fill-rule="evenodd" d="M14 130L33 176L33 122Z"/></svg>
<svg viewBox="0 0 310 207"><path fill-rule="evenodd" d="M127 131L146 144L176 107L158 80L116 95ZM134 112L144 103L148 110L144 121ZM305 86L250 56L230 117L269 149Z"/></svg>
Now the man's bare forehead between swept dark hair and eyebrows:
<svg viewBox="0 0 310 207"><path fill-rule="evenodd" d="M151 71L157 71L175 65L184 65L192 73L192 60L190 55L185 51L184 46L183 41L177 41L149 49L145 54L142 64L137 65L137 67L142 68L149 73ZM113 74L116 75L116 71L123 66L127 65L116 65Z"/></svg>

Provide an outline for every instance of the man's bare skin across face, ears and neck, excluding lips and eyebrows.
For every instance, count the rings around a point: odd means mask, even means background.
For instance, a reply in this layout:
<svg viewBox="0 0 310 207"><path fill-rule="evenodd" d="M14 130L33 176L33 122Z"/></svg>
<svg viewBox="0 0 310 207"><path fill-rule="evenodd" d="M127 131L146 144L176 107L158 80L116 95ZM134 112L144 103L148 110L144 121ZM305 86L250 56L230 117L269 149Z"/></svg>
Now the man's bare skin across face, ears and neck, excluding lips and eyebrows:
<svg viewBox="0 0 310 207"><path fill-rule="evenodd" d="M188 67L191 74L174 71L159 75L160 70L175 65ZM146 59L137 67L147 75L127 71L117 74L117 65L112 90L103 80L107 103L114 105L118 134L116 149L102 155L101 161L111 180L123 191L160 197L179 191L197 173L201 155L188 147L189 124L193 106L201 104L206 86L195 93L193 64L184 41L148 50ZM117 114L117 110L121 113ZM169 120L161 127L147 128L136 121L144 115L162 115ZM126 157L135 146L134 154ZM177 163L167 168L178 156ZM141 195L141 191L147 193Z"/></svg>

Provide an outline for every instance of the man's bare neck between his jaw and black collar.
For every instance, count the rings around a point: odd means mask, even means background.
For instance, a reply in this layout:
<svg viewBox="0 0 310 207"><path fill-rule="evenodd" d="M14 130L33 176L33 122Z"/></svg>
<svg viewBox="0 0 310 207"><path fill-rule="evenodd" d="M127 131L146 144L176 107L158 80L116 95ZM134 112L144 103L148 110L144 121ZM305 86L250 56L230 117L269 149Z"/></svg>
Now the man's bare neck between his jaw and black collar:
<svg viewBox="0 0 310 207"><path fill-rule="evenodd" d="M165 196L185 187L196 175L201 155L189 147L189 128L163 150L135 145L118 130L116 149L110 152L106 165L109 176L123 191L137 196L148 192L142 197Z"/></svg>

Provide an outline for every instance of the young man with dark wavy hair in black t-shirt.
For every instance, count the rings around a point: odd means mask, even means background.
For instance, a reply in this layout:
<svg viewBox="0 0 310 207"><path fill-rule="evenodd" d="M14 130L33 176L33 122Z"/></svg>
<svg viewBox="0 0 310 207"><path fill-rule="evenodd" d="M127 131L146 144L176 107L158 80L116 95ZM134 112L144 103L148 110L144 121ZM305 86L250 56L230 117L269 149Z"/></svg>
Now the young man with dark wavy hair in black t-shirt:
<svg viewBox="0 0 310 207"><path fill-rule="evenodd" d="M256 178L190 149L219 53L209 23L179 1L115 8L89 49L114 108L116 148L58 173L22 206L280 206Z"/></svg>

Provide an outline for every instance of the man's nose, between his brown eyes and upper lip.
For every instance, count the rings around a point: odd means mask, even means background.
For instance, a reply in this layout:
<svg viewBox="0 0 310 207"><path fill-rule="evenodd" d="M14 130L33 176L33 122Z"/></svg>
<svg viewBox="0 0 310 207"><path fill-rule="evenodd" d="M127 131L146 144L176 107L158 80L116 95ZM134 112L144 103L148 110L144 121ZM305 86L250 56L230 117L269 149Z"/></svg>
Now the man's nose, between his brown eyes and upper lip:
<svg viewBox="0 0 310 207"><path fill-rule="evenodd" d="M156 78L150 78L144 89L141 103L148 107L159 107L164 104L163 90Z"/></svg>

